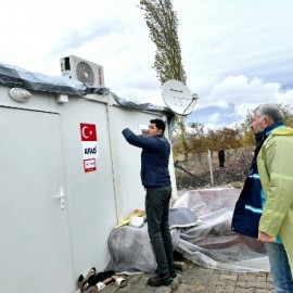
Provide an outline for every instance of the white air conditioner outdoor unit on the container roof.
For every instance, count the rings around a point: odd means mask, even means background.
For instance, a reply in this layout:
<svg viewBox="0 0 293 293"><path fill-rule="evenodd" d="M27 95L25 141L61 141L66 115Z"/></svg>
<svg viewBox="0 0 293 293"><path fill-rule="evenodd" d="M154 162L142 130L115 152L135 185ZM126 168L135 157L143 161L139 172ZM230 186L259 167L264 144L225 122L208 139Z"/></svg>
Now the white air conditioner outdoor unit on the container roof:
<svg viewBox="0 0 293 293"><path fill-rule="evenodd" d="M63 76L69 76L93 88L103 88L105 86L103 66L74 55L62 58L60 63Z"/></svg>

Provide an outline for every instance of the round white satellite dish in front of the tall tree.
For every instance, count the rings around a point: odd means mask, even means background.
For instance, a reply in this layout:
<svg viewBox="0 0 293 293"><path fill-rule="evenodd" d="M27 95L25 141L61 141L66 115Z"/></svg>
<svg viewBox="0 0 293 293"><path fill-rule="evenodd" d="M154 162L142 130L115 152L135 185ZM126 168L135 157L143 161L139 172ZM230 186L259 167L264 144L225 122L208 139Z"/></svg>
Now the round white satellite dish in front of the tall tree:
<svg viewBox="0 0 293 293"><path fill-rule="evenodd" d="M165 104L179 115L189 115L196 103L198 95L181 81L170 79L162 87L162 97Z"/></svg>

